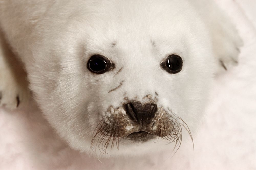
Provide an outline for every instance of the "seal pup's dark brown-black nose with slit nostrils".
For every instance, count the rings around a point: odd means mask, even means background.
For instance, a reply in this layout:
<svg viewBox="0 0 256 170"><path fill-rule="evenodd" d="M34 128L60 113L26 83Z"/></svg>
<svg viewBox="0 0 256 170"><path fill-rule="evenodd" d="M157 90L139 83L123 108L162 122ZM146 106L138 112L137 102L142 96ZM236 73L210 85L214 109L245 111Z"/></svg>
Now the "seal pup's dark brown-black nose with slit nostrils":
<svg viewBox="0 0 256 170"><path fill-rule="evenodd" d="M138 123L148 121L155 116L157 105L148 103L142 105L141 102L133 101L125 105L126 113L130 118Z"/></svg>

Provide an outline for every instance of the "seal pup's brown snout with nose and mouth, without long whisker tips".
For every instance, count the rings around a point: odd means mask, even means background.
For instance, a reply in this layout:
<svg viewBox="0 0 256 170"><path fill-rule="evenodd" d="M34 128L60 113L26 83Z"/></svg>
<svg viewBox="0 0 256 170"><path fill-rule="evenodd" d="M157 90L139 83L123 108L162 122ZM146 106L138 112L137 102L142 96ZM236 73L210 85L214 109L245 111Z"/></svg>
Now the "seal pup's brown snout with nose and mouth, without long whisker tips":
<svg viewBox="0 0 256 170"><path fill-rule="evenodd" d="M130 100L122 107L110 106L98 126L93 141L102 142L106 136L136 142L146 142L157 136L170 141L177 139L181 131L179 120L163 106L157 106L157 100L150 100L149 97L149 100L143 98L142 102Z"/></svg>

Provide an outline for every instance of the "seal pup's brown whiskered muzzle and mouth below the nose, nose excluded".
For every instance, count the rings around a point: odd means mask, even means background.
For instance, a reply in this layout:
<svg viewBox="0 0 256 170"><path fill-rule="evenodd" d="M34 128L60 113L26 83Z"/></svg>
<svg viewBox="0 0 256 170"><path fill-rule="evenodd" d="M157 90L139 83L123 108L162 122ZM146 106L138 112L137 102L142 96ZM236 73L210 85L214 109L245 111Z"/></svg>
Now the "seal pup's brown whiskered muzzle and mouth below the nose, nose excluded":
<svg viewBox="0 0 256 170"><path fill-rule="evenodd" d="M192 142L193 138L187 124L175 113L169 112L160 108L141 128L141 124L132 120L123 108L114 109L111 106L106 117L100 121L94 131L91 148L107 153L109 147L119 149L120 144L144 143L160 137L169 143L175 143L173 150L176 152L181 145L183 128L189 133Z"/></svg>

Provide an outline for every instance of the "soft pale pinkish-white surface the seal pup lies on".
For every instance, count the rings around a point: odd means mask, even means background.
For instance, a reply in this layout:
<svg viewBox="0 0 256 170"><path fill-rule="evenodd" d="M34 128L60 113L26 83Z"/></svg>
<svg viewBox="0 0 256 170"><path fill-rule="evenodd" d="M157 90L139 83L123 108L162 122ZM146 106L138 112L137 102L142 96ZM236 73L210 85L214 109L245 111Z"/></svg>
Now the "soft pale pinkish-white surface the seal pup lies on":
<svg viewBox="0 0 256 170"><path fill-rule="evenodd" d="M256 1L216 1L233 19L244 47L239 65L216 78L205 122L194 139L194 161L160 153L101 163L67 147L31 104L26 111L0 109L0 170L163 170L174 160L179 169L255 170Z"/></svg>

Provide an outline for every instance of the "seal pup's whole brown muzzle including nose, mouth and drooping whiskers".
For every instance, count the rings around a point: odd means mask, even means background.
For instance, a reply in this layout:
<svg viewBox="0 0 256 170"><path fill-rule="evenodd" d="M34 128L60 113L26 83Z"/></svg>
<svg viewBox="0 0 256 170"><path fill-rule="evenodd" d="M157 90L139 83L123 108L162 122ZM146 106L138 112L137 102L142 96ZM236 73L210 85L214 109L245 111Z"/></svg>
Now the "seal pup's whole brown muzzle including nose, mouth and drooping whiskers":
<svg viewBox="0 0 256 170"><path fill-rule="evenodd" d="M132 100L117 108L110 106L94 131L91 147L106 153L109 146L119 149L119 144L144 143L160 137L176 143L175 150L181 144L183 128L192 139L189 127L174 112L157 108L157 99L152 100L152 95L143 99L143 104Z"/></svg>

